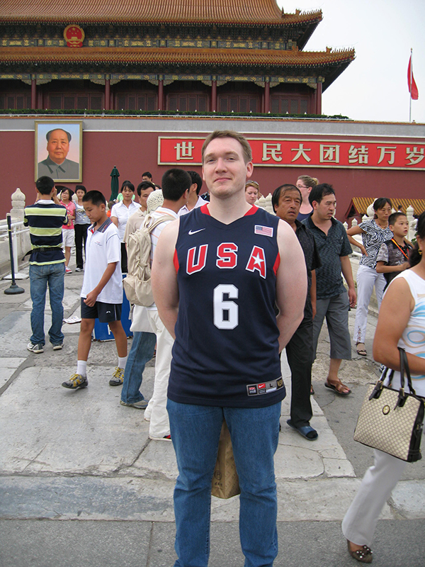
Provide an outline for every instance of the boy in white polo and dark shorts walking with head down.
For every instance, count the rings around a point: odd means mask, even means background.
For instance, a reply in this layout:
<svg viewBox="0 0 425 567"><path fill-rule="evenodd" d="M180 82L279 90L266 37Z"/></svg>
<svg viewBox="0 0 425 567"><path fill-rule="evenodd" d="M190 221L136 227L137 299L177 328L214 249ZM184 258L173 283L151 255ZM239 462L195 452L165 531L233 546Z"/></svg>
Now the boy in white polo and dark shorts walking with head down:
<svg viewBox="0 0 425 567"><path fill-rule="evenodd" d="M127 336L121 325L123 278L121 276L121 245L118 228L106 215L106 199L100 191L89 191L83 197L86 215L92 223L87 231L86 269L81 288L81 329L78 341L77 372L64 388L86 388L87 359L91 347L91 333L97 318L108 323L115 338L118 366L109 381L120 386L127 361Z"/></svg>

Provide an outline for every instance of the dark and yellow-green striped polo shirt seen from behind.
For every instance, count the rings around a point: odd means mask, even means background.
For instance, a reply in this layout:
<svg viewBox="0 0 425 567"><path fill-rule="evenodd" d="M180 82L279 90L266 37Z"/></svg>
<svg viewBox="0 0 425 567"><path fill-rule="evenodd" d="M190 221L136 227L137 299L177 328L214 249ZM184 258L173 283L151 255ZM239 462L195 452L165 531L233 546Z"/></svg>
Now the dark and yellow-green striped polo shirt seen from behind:
<svg viewBox="0 0 425 567"><path fill-rule="evenodd" d="M24 209L23 224L30 228L33 252L30 264L60 264L65 261L62 250L62 225L68 222L67 209L51 199L40 199Z"/></svg>

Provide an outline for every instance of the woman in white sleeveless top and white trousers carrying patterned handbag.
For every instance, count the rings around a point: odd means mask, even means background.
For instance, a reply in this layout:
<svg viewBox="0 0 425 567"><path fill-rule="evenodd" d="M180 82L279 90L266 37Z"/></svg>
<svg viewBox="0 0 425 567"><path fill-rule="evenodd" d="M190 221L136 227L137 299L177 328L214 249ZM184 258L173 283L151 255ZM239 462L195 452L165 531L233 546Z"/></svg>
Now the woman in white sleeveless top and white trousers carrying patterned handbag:
<svg viewBox="0 0 425 567"><path fill-rule="evenodd" d="M373 357L395 369L392 388L398 389L399 351L403 347L417 395L425 397L425 213L418 221L416 247L410 257L411 269L399 274L388 286L382 300ZM409 387L405 384L406 391ZM399 481L405 461L375 449L374 464L366 471L361 486L342 522L348 552L362 563L372 561L370 544L383 505Z"/></svg>

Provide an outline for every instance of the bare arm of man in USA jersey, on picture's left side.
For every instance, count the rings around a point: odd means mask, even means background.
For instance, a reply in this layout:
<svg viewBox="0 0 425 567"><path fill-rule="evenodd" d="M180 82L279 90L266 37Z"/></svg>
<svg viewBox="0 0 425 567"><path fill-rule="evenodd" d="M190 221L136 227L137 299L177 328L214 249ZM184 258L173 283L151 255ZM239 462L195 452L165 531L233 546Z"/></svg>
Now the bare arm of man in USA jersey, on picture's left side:
<svg viewBox="0 0 425 567"><path fill-rule="evenodd" d="M152 263L152 291L159 318L174 339L174 327L179 313L179 288L174 266L174 251L179 235L179 221L166 225L159 237Z"/></svg>

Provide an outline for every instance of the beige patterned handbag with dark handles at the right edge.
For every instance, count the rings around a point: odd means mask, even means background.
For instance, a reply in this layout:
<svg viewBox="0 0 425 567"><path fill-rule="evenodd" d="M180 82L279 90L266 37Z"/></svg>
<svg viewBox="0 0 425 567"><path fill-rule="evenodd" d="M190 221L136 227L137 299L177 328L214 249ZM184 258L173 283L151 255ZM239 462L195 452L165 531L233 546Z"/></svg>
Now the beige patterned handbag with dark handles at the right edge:
<svg viewBox="0 0 425 567"><path fill-rule="evenodd" d="M375 386L370 385L358 416L354 441L413 463L421 456L424 398L416 395L404 349L400 353L400 388L384 386L388 369ZM404 392L404 373L409 392ZM390 384L394 370L390 371Z"/></svg>

